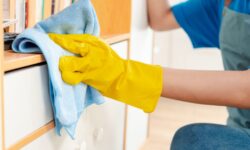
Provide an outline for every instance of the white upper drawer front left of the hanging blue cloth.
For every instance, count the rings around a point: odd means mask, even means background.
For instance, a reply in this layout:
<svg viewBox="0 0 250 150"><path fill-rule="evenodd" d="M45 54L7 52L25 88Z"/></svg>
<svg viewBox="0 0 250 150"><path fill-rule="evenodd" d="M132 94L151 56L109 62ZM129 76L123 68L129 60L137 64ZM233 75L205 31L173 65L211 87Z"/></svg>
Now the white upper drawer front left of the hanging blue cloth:
<svg viewBox="0 0 250 150"><path fill-rule="evenodd" d="M4 100L9 147L53 119L46 65L6 73Z"/></svg>

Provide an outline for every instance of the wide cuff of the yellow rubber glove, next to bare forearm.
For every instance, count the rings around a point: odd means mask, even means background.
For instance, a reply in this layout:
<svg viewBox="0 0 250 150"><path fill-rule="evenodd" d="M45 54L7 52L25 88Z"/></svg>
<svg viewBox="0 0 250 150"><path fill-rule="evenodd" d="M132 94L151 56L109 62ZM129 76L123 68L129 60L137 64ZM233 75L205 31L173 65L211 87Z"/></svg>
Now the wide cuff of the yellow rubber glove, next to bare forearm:
<svg viewBox="0 0 250 150"><path fill-rule="evenodd" d="M103 94L150 113L158 103L162 84L162 67L127 60L124 72L113 83L115 88Z"/></svg>

